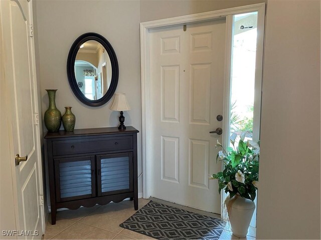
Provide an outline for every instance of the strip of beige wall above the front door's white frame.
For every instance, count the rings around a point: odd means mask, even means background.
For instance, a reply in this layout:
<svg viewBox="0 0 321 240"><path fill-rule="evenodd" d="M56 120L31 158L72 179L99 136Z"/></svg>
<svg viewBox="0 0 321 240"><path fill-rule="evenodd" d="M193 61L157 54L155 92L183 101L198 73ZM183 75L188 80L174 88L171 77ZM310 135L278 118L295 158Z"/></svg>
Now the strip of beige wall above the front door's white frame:
<svg viewBox="0 0 321 240"><path fill-rule="evenodd" d="M140 21L183 16L260 2L267 2L267 0L141 0Z"/></svg>

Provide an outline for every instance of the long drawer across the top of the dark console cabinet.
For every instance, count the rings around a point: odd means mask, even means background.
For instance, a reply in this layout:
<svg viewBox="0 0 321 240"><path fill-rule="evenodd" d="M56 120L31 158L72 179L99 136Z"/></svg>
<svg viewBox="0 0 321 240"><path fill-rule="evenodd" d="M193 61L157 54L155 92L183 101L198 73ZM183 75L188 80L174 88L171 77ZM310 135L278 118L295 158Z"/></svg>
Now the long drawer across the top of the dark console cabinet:
<svg viewBox="0 0 321 240"><path fill-rule="evenodd" d="M52 142L53 155L132 149L132 136L58 140Z"/></svg>

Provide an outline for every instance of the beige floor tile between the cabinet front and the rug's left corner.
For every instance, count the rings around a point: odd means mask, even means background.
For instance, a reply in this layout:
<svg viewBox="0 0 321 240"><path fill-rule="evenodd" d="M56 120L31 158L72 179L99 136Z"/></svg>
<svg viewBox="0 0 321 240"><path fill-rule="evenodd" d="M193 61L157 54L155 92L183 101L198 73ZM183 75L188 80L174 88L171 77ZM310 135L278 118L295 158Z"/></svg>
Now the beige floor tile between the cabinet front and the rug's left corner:
<svg viewBox="0 0 321 240"><path fill-rule="evenodd" d="M119 226L119 224L124 222L135 212L136 211L131 206L118 203L109 203L91 212L89 215L82 218L80 222L118 234L123 229Z"/></svg>

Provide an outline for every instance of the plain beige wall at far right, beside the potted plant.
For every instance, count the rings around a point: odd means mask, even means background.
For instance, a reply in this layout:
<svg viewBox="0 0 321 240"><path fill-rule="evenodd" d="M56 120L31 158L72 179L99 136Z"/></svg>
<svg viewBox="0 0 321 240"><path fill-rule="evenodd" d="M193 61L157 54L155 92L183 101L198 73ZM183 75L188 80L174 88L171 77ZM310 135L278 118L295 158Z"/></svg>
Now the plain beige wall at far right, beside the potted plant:
<svg viewBox="0 0 321 240"><path fill-rule="evenodd" d="M267 3L258 239L320 239L320 1Z"/></svg>

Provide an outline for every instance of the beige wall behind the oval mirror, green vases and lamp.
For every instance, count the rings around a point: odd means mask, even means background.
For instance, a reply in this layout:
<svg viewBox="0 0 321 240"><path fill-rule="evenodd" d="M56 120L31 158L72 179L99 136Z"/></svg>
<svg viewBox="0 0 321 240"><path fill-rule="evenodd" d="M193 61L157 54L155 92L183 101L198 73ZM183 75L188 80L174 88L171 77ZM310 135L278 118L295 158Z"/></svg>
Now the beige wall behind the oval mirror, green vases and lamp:
<svg viewBox="0 0 321 240"><path fill-rule="evenodd" d="M126 93L131 106L130 111L124 112L125 125L132 125L141 131L139 1L36 0L35 3L38 23L35 29L38 39L36 60L38 78L41 81L43 114L49 106L45 89L58 89L57 107L62 114L64 106L73 107L76 128L118 124L119 113L109 109L111 101L100 107L86 106L74 96L68 84L66 65L72 43L85 32L97 32L106 37L117 55L119 81L116 92ZM47 131L45 126L44 131ZM140 174L142 171L140 133L138 168ZM141 192L141 176L138 191ZM49 201L48 196L47 199Z"/></svg>

